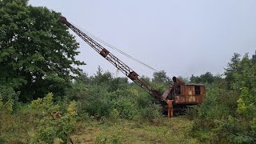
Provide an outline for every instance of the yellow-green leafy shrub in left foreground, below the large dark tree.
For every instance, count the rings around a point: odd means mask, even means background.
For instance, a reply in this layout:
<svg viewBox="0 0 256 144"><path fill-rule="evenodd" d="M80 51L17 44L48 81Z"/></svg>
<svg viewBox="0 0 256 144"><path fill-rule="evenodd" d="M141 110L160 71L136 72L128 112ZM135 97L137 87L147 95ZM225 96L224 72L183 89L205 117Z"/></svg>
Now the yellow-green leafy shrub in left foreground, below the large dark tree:
<svg viewBox="0 0 256 144"><path fill-rule="evenodd" d="M36 114L37 123L32 142L54 143L55 138L67 142L76 124L75 104L75 102L70 102L65 109L60 109L61 106L53 102L53 94L47 94L45 98L38 98L31 102L30 106Z"/></svg>

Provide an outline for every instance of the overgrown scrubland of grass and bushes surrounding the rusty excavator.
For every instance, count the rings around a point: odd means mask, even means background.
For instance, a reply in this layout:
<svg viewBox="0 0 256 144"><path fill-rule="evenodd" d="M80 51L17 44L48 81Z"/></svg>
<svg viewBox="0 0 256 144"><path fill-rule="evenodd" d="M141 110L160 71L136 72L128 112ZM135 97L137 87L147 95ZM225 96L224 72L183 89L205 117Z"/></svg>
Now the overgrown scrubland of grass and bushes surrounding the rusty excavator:
<svg viewBox="0 0 256 144"><path fill-rule="evenodd" d="M255 57L256 58L256 57ZM100 68L82 74L66 95L52 93L31 102L1 89L1 143L254 143L256 66L235 54L226 78L210 73L184 79L205 82L206 98L185 116L165 118L161 106L127 78ZM255 61L256 62L256 61ZM170 79L158 72L148 82L159 91Z"/></svg>

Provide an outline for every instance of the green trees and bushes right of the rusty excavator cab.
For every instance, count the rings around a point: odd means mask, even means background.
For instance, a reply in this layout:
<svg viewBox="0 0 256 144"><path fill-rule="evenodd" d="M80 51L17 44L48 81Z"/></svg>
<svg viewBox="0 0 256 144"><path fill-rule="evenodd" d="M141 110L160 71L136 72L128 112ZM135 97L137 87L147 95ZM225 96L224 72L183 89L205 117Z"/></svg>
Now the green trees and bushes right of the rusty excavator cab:
<svg viewBox="0 0 256 144"><path fill-rule="evenodd" d="M226 66L225 78L213 82L206 78L209 83L204 102L187 113L194 121L191 134L195 138L209 143L256 142L255 62L256 54L251 58L234 54Z"/></svg>

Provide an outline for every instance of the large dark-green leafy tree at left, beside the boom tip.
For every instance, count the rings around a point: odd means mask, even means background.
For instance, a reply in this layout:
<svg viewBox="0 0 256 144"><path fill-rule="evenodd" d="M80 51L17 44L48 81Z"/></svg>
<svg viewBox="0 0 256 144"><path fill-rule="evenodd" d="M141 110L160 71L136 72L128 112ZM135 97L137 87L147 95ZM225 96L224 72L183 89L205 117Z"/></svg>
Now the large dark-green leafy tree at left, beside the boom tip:
<svg viewBox="0 0 256 144"><path fill-rule="evenodd" d="M58 22L60 14L28 0L0 0L0 90L19 92L28 102L48 92L65 94L83 65L78 42Z"/></svg>

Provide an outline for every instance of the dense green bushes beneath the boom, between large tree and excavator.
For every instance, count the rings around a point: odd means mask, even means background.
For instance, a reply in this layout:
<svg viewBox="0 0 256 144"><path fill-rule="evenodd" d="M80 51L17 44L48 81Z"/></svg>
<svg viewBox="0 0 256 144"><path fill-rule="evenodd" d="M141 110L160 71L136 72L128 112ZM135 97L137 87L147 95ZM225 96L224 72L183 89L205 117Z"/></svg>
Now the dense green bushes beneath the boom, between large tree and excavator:
<svg viewBox="0 0 256 144"><path fill-rule="evenodd" d="M163 87L154 85L159 90ZM114 78L100 67L94 76L82 74L74 81L67 98L78 102L81 114L98 118L142 118L153 122L161 113L158 102L146 90L128 82L128 78Z"/></svg>

